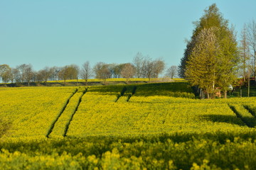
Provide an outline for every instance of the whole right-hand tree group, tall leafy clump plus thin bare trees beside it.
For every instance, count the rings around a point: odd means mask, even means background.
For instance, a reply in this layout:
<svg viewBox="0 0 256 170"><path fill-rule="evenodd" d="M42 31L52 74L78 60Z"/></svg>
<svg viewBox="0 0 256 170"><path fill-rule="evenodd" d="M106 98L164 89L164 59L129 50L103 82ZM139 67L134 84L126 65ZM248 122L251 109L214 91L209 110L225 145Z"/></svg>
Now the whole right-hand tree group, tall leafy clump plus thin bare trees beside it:
<svg viewBox="0 0 256 170"><path fill-rule="evenodd" d="M195 29L187 41L178 75L197 86L202 98L214 98L217 91L223 91L226 98L238 77L256 76L255 21L245 25L240 44L216 4L206 8L193 24Z"/></svg>

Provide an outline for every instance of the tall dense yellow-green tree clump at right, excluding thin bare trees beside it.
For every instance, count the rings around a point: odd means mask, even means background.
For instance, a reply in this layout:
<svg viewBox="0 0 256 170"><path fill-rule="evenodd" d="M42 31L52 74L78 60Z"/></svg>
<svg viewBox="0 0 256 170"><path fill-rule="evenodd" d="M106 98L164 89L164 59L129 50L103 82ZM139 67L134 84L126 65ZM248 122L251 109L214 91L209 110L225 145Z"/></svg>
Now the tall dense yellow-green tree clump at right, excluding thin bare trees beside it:
<svg viewBox="0 0 256 170"><path fill-rule="evenodd" d="M183 77L189 79L193 86L206 91L208 98L214 97L216 87L220 87L226 97L228 87L235 81L239 61L233 29L228 28L228 21L215 4L209 6L195 25L196 29L181 59L180 76L183 71Z"/></svg>

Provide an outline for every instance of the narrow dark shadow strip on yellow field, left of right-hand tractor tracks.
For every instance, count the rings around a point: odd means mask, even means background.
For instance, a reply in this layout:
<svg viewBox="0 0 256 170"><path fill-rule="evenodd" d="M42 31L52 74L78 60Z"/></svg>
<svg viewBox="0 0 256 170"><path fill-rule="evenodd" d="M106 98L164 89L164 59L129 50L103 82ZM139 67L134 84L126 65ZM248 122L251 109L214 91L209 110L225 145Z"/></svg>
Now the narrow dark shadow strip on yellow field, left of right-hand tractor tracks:
<svg viewBox="0 0 256 170"><path fill-rule="evenodd" d="M213 123L230 123L232 125L246 126L236 115L203 115L203 120L208 120Z"/></svg>

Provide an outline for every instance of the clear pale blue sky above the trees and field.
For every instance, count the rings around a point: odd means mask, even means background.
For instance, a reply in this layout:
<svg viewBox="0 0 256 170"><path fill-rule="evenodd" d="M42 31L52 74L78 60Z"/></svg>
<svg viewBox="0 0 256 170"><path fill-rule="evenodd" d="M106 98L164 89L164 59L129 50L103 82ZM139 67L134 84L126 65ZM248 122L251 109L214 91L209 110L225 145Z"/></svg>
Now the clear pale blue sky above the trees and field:
<svg viewBox="0 0 256 170"><path fill-rule="evenodd" d="M213 3L238 38L256 19L255 0L0 0L0 64L125 63L142 52L178 65L192 22Z"/></svg>

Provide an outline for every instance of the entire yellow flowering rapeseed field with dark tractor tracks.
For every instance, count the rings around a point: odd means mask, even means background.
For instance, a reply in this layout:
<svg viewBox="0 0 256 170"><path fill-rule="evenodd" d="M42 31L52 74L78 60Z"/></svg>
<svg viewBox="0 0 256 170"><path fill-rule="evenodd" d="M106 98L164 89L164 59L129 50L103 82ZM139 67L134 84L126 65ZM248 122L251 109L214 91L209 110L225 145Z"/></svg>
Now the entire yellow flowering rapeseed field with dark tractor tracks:
<svg viewBox="0 0 256 170"><path fill-rule="evenodd" d="M0 169L256 169L252 98L186 82L0 89Z"/></svg>

